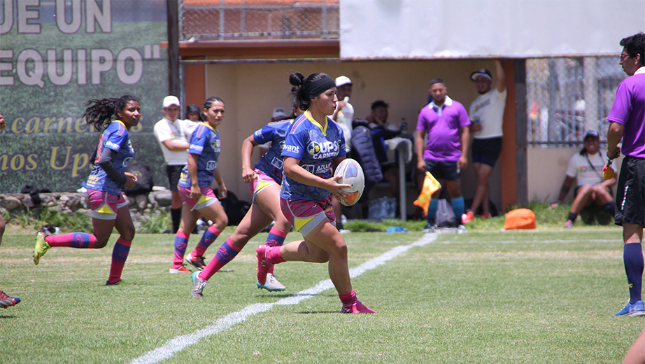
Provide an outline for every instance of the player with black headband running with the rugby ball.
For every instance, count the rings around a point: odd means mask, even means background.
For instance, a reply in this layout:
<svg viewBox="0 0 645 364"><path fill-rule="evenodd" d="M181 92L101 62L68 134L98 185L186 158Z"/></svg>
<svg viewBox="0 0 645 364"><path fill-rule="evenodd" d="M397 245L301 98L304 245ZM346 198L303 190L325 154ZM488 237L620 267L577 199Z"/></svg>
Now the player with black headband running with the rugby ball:
<svg viewBox="0 0 645 364"><path fill-rule="evenodd" d="M339 293L344 313L374 313L357 300L347 264L347 246L336 230L331 196L347 195L336 182L333 169L345 159L344 134L327 116L336 109L336 83L325 73L305 78L291 74L290 83L297 87L299 116L288 130L283 156L281 209L286 218L302 233L304 241L283 246L261 245L257 253L257 281L265 283L272 265L285 261L329 262L329 278Z"/></svg>

